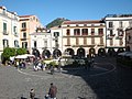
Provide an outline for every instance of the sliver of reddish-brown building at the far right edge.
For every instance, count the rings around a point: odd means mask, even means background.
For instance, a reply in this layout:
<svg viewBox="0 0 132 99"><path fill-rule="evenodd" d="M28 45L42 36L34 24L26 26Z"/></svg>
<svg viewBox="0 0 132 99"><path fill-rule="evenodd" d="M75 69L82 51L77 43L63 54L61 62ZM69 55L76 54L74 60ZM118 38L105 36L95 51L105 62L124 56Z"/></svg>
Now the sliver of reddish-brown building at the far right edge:
<svg viewBox="0 0 132 99"><path fill-rule="evenodd" d="M132 52L132 25L125 30L127 36L125 36L125 45L127 45L127 51Z"/></svg>

